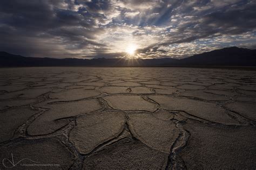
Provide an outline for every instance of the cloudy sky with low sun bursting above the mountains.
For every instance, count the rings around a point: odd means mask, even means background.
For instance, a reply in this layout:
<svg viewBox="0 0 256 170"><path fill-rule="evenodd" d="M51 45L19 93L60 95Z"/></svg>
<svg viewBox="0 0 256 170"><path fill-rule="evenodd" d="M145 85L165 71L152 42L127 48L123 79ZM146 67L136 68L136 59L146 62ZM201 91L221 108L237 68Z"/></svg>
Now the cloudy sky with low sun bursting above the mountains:
<svg viewBox="0 0 256 170"><path fill-rule="evenodd" d="M255 9L255 0L1 0L0 51L144 59L255 49Z"/></svg>

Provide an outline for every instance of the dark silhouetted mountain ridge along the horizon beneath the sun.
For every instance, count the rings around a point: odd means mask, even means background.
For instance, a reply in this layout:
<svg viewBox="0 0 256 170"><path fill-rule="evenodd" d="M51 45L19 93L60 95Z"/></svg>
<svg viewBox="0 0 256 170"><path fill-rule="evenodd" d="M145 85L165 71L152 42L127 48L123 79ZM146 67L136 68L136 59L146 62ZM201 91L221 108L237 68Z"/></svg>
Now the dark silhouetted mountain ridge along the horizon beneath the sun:
<svg viewBox="0 0 256 170"><path fill-rule="evenodd" d="M256 49L227 47L184 59L56 59L0 52L0 67L32 66L256 66Z"/></svg>

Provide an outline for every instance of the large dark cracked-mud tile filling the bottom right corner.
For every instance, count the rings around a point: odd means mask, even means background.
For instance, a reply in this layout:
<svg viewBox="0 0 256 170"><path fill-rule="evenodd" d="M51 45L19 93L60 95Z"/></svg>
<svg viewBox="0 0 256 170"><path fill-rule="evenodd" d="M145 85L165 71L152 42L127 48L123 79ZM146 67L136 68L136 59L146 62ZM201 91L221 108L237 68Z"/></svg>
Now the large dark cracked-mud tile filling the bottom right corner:
<svg viewBox="0 0 256 170"><path fill-rule="evenodd" d="M256 129L220 129L196 122L185 124L191 133L179 155L188 169L255 169Z"/></svg>

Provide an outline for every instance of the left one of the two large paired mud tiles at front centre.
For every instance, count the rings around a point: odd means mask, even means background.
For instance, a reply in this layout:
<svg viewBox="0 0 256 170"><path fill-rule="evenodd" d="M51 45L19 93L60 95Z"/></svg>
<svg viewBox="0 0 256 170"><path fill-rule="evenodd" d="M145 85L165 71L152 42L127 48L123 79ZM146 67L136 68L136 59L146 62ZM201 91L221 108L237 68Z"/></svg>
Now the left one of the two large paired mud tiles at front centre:
<svg viewBox="0 0 256 170"><path fill-rule="evenodd" d="M125 121L122 112L113 111L79 117L70 132L70 141L80 153L90 153L98 145L117 137L124 129Z"/></svg>

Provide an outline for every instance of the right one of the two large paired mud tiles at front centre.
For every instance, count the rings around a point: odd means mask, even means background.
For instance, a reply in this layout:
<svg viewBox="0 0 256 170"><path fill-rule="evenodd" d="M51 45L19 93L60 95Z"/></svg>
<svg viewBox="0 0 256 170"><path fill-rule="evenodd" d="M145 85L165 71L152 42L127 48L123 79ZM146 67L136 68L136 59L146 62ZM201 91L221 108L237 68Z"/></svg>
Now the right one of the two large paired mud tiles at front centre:
<svg viewBox="0 0 256 170"><path fill-rule="evenodd" d="M179 136L176 124L162 121L150 114L129 114L129 128L133 136L155 150L170 153Z"/></svg>

